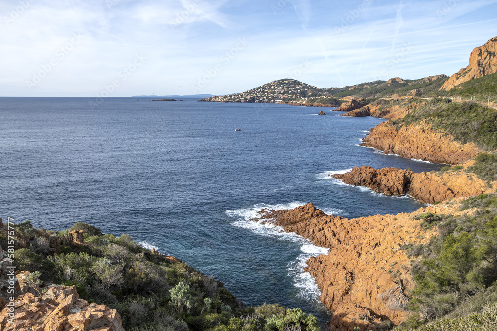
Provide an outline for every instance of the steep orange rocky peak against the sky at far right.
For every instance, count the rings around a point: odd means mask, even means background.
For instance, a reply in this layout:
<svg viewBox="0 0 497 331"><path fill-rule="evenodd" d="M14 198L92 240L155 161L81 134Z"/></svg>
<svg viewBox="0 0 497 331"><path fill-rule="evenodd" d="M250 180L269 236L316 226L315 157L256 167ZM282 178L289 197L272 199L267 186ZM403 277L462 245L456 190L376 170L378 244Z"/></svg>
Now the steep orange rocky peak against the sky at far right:
<svg viewBox="0 0 497 331"><path fill-rule="evenodd" d="M497 72L497 37L471 52L469 65L452 75L440 88L446 91L455 86Z"/></svg>

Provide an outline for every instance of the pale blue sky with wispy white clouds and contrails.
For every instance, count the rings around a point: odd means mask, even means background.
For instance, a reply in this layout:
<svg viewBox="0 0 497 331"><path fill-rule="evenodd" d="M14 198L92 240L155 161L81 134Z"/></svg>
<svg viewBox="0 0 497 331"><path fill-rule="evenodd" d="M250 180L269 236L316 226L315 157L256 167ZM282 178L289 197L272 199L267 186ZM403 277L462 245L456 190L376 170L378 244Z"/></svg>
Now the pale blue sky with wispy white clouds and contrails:
<svg viewBox="0 0 497 331"><path fill-rule="evenodd" d="M497 36L497 0L0 0L0 13L0 96L418 79Z"/></svg>

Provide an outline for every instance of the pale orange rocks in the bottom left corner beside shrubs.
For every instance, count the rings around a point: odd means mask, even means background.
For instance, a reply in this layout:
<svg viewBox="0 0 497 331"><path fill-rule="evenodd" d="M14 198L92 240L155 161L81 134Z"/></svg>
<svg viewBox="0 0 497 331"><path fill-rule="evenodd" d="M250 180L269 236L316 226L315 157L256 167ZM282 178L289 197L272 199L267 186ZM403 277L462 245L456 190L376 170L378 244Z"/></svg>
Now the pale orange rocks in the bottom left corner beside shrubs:
<svg viewBox="0 0 497 331"><path fill-rule="evenodd" d="M2 331L124 331L115 309L88 304L80 299L75 286L52 285L42 297L22 294L14 301L13 310L13 323L9 322L9 307L0 312Z"/></svg>

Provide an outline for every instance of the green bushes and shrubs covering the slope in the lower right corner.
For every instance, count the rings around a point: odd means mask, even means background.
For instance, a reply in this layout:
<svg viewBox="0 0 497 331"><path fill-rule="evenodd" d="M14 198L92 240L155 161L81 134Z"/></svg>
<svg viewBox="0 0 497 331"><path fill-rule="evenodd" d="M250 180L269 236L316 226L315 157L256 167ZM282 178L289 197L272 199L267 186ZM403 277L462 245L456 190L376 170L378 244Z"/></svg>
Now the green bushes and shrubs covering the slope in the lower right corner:
<svg viewBox="0 0 497 331"><path fill-rule="evenodd" d="M427 244L404 247L413 258L417 284L408 308L422 318L407 320L397 330L496 330L497 195L470 198L462 208L475 212L418 217L421 226L436 226L439 235Z"/></svg>

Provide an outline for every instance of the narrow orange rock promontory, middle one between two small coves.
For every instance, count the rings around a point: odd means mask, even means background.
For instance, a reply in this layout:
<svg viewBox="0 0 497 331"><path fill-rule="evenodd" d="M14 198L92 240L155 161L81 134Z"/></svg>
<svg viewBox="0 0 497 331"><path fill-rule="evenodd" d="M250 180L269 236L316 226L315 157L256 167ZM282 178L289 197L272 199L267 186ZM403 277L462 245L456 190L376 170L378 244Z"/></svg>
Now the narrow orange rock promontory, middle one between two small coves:
<svg viewBox="0 0 497 331"><path fill-rule="evenodd" d="M414 173L396 168L374 169L370 166L353 168L334 178L356 186L366 186L386 195L409 195L423 203L443 202L449 199L490 193L487 184L474 174L463 171L444 173Z"/></svg>

